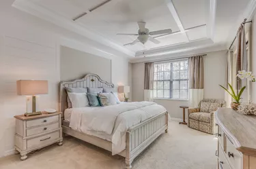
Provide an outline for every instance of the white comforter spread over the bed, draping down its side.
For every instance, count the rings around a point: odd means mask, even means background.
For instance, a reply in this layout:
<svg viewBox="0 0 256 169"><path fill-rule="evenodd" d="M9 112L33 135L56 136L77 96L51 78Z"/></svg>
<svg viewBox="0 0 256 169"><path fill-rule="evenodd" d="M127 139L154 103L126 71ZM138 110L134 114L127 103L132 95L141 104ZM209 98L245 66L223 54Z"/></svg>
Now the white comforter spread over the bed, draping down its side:
<svg viewBox="0 0 256 169"><path fill-rule="evenodd" d="M90 109L89 109L90 108ZM88 134L88 131L111 135L112 154L126 147L128 128L166 109L154 102L128 102L107 107L83 107L72 109L70 128Z"/></svg>

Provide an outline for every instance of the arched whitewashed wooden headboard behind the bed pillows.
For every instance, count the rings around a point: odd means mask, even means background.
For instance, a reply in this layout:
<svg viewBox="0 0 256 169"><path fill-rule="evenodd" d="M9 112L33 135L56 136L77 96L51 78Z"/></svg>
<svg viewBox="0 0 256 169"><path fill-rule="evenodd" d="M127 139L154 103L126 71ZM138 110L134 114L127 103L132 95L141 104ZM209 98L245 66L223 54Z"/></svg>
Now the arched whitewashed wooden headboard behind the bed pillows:
<svg viewBox="0 0 256 169"><path fill-rule="evenodd" d="M65 87L72 88L114 88L113 83L108 83L100 79L98 75L87 74L82 79L75 79L73 81L61 81L59 87L59 98L60 98L60 110L64 113L65 109L68 109L67 92Z"/></svg>

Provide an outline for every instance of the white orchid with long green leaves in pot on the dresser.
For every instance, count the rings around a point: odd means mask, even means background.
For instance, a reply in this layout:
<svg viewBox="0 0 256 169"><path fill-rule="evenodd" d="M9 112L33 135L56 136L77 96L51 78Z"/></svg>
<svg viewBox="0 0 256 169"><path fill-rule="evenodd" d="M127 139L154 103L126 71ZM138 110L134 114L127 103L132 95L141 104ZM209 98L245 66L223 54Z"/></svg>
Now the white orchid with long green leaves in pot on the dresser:
<svg viewBox="0 0 256 169"><path fill-rule="evenodd" d="M240 79L248 79L249 81L255 82L255 75L253 75L251 71L247 71L247 72L244 70L238 71L238 75L236 75L236 76L239 77ZM233 90L233 87L231 86L231 84L229 84L229 88L230 88L231 92L229 92L229 90L227 90L227 88L224 88L223 86L221 86L221 88L226 90L232 96L234 102L231 102L231 108L234 111L237 111L238 106L240 105L242 92L244 92L244 89L246 88L246 86L242 87L240 92L237 90L237 93Z"/></svg>

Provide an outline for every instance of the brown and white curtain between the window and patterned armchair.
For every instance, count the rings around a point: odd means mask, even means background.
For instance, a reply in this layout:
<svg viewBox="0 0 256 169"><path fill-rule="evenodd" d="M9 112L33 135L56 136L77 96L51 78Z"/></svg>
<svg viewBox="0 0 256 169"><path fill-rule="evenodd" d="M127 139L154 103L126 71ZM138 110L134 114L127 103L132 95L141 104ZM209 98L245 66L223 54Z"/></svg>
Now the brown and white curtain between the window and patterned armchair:
<svg viewBox="0 0 256 169"><path fill-rule="evenodd" d="M203 99L203 56L188 58L189 106L197 107Z"/></svg>

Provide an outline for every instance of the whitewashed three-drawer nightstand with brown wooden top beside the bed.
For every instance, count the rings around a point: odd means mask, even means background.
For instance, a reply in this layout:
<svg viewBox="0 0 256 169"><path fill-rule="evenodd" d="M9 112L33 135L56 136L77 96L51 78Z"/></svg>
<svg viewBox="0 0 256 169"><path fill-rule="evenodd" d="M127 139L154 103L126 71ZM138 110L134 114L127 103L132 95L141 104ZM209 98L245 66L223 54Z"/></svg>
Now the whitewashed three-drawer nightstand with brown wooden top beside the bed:
<svg viewBox="0 0 256 169"><path fill-rule="evenodd" d="M42 115L16 115L15 149L27 159L27 153L53 143L62 145L61 112Z"/></svg>

